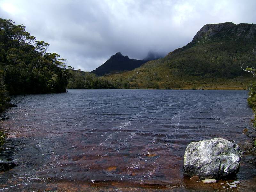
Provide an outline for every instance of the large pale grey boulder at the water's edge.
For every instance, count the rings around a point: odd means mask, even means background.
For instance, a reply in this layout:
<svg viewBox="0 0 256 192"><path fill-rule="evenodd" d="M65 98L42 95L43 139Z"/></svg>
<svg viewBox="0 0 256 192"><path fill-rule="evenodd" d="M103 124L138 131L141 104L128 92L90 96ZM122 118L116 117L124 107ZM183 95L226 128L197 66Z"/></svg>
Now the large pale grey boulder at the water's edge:
<svg viewBox="0 0 256 192"><path fill-rule="evenodd" d="M184 156L184 174L219 179L239 171L240 147L223 138L190 143Z"/></svg>

